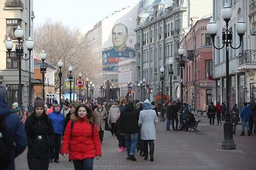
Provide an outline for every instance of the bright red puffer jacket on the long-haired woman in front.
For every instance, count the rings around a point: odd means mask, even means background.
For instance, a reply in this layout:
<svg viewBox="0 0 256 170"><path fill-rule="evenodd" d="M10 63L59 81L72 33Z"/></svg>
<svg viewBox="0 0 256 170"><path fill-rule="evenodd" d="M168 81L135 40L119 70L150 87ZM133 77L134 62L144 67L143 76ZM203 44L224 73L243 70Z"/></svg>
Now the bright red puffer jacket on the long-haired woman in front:
<svg viewBox="0 0 256 170"><path fill-rule="evenodd" d="M70 120L65 129L61 153L69 153L69 160L82 160L101 156L101 145L97 125L87 122L87 117L78 118L74 122L71 133Z"/></svg>

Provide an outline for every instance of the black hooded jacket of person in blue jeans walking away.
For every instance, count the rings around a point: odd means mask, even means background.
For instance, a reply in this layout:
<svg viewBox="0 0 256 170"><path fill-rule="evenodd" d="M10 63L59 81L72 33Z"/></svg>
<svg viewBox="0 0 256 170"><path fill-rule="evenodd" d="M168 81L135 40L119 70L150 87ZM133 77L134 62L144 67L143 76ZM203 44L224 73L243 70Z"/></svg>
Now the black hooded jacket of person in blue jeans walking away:
<svg viewBox="0 0 256 170"><path fill-rule="evenodd" d="M118 130L120 133L138 134L139 126L139 111L136 110L133 104L126 104L125 109L121 111Z"/></svg>

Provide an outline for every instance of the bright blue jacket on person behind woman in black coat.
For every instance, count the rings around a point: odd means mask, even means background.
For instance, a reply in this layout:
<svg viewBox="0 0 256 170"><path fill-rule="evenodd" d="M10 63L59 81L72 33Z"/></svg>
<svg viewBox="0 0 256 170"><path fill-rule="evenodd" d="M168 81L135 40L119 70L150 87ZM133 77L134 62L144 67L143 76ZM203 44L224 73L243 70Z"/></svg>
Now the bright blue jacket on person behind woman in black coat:
<svg viewBox="0 0 256 170"><path fill-rule="evenodd" d="M48 117L51 118L54 133L63 134L65 130L64 129L65 118L63 114L61 114L60 111L56 112L55 110L53 110L52 113L48 115Z"/></svg>

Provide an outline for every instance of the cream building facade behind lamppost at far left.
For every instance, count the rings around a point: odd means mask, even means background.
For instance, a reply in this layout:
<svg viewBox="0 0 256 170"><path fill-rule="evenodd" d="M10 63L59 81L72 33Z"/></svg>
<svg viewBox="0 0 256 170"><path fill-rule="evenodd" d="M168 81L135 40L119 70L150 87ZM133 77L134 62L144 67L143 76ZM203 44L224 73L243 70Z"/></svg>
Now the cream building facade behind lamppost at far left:
<svg viewBox="0 0 256 170"><path fill-rule="evenodd" d="M8 90L7 101L8 104L12 104L18 101L19 90L19 61L15 60L15 45L17 45L18 40L14 32L17 26L20 25L21 29L24 31L24 37L21 41L22 44L29 36L33 38L33 19L35 15L33 11L33 0L6 0L1 2L0 37L3 38L3 41L0 43L0 83L6 85ZM4 40L8 37L13 41L13 49L10 53L10 57L4 45ZM28 59L28 57L29 52L24 45L24 58ZM30 70L29 61L31 66ZM31 74L31 78L33 78L33 55L31 56L31 60L22 60L21 69L22 103L24 106L28 106L29 100L32 100L29 99L29 74ZM31 83L33 85L32 80ZM31 94L31 96L33 96L33 94Z"/></svg>

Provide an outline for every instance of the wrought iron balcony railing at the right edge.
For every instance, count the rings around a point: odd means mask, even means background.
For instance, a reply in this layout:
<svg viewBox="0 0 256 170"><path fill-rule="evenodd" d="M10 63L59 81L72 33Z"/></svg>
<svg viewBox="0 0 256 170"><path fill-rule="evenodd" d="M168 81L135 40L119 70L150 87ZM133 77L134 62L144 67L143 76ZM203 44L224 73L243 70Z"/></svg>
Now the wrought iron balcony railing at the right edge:
<svg viewBox="0 0 256 170"><path fill-rule="evenodd" d="M239 65L243 65L246 63L256 64L256 50L244 50L239 53Z"/></svg>

